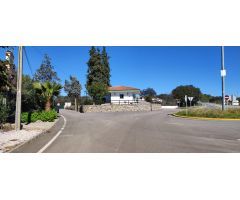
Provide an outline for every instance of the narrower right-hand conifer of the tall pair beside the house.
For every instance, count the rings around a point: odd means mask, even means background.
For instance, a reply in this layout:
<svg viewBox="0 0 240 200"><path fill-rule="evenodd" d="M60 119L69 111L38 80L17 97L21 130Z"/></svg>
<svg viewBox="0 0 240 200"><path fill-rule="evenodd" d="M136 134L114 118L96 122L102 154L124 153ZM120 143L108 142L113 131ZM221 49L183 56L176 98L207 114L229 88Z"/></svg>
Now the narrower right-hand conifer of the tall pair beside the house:
<svg viewBox="0 0 240 200"><path fill-rule="evenodd" d="M110 64L109 64L110 57L107 54L106 47L103 47L101 57L102 57L102 65L103 65L103 70L104 70L103 71L103 73L104 73L103 81L109 87L109 86L111 86L111 83L110 83L111 75L110 75Z"/></svg>

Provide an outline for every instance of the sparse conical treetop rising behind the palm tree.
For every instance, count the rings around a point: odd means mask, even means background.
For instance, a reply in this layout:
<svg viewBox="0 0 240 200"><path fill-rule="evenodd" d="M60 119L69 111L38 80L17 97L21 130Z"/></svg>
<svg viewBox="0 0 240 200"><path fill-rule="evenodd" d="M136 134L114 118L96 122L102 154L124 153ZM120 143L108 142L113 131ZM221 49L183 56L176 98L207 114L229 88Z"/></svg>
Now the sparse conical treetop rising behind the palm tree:
<svg viewBox="0 0 240 200"><path fill-rule="evenodd" d="M59 82L60 78L57 76L57 72L54 71L54 67L51 63L51 58L45 54L40 68L34 75L34 80L44 82Z"/></svg>

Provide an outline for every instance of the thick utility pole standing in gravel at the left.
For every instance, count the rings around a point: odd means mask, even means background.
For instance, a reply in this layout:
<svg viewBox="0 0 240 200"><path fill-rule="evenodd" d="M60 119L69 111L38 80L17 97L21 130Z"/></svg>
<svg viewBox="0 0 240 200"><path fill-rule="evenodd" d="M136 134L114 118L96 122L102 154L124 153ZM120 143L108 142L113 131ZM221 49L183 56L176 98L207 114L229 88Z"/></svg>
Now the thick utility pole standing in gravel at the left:
<svg viewBox="0 0 240 200"><path fill-rule="evenodd" d="M18 48L18 73L17 73L17 98L15 114L15 130L21 129L21 107L22 107L22 68L23 68L23 47Z"/></svg>

